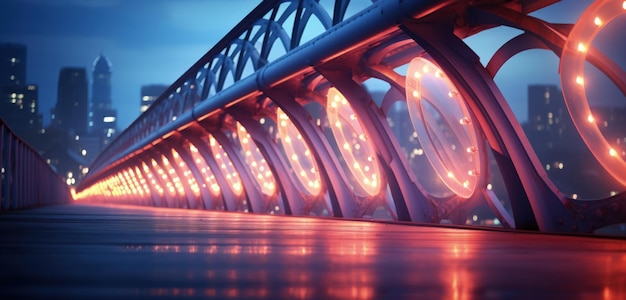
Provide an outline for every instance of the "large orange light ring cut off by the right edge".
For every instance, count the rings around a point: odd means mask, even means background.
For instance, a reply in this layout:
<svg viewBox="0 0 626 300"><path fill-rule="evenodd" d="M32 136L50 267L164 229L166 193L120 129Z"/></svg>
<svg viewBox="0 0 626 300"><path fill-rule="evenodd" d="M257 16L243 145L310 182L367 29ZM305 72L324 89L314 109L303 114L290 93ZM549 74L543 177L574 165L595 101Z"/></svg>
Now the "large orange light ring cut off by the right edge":
<svg viewBox="0 0 626 300"><path fill-rule="evenodd" d="M618 151L604 137L591 113L585 90L584 67L587 52L596 35L616 17L626 13L626 1L592 3L580 16L561 54L561 86L574 126L598 162L620 184L626 186L626 153Z"/></svg>

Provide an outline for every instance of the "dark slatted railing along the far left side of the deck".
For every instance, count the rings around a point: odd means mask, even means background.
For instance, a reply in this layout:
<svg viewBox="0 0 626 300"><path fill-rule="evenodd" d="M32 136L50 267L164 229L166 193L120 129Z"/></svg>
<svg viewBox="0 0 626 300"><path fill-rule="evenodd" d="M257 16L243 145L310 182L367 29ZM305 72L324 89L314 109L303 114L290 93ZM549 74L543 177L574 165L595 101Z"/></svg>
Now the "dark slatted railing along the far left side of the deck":
<svg viewBox="0 0 626 300"><path fill-rule="evenodd" d="M63 178L0 119L0 211L71 200Z"/></svg>

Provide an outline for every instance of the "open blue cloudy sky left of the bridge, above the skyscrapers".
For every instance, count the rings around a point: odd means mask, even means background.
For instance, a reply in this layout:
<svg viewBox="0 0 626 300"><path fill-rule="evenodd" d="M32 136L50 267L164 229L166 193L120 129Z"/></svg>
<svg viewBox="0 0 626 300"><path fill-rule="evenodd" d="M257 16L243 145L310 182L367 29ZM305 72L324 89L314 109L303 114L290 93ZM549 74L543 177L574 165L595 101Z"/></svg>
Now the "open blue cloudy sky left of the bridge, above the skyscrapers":
<svg viewBox="0 0 626 300"><path fill-rule="evenodd" d="M171 85L259 3L241 0L234 10L224 1L7 0L0 43L27 47L26 80L39 85L44 125L59 71L91 70L104 53L115 69L112 106L123 130L139 116L142 85Z"/></svg>

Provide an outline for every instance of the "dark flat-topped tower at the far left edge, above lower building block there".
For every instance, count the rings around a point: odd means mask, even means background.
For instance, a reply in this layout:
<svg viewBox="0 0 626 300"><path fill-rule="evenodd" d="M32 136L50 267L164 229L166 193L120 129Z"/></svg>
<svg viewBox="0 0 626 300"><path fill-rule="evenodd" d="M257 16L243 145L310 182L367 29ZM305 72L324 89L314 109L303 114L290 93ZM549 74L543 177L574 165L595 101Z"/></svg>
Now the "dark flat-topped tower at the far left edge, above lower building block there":
<svg viewBox="0 0 626 300"><path fill-rule="evenodd" d="M0 87L26 84L26 46L0 44Z"/></svg>

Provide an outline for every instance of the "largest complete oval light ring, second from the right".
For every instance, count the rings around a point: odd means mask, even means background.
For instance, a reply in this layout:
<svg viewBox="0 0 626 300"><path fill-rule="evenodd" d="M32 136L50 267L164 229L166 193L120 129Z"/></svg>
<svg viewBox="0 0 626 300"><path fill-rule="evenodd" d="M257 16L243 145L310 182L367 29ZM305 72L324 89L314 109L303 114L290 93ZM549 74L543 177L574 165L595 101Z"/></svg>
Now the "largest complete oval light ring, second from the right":
<svg viewBox="0 0 626 300"><path fill-rule="evenodd" d="M481 155L464 99L446 74L423 57L409 63L405 89L411 123L433 169L457 196L471 197L482 173Z"/></svg>

